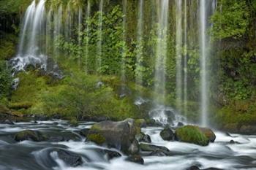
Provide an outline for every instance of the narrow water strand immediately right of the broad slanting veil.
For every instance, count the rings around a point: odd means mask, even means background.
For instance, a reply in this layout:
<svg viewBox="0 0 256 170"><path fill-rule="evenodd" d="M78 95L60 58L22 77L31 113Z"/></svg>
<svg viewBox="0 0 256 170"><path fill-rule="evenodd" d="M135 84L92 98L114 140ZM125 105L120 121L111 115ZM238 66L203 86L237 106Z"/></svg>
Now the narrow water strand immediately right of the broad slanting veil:
<svg viewBox="0 0 256 170"><path fill-rule="evenodd" d="M182 0L176 0L176 105L181 106L182 99Z"/></svg>

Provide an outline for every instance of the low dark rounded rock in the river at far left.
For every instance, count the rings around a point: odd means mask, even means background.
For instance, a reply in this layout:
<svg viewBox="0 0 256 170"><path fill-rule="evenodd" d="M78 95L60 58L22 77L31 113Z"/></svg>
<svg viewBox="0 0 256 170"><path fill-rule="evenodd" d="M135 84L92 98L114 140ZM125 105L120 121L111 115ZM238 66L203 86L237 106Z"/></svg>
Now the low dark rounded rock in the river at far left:
<svg viewBox="0 0 256 170"><path fill-rule="evenodd" d="M34 141L34 142L41 142L41 141L47 140L47 137L44 136L39 131L25 130L25 131L20 131L17 134L15 134L14 139L17 142L25 141L25 140L31 140L31 141Z"/></svg>

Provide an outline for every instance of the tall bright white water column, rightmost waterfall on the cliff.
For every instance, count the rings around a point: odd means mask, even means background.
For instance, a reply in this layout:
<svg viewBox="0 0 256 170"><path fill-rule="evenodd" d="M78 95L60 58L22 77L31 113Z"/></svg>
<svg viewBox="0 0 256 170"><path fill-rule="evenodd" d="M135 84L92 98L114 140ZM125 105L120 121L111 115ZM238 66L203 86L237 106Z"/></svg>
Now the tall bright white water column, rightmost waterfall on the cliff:
<svg viewBox="0 0 256 170"><path fill-rule="evenodd" d="M209 27L208 19L212 12L216 1L200 1L200 112L201 112L201 125L207 126L208 123L208 72L209 72L209 49L211 43L207 34L207 28Z"/></svg>

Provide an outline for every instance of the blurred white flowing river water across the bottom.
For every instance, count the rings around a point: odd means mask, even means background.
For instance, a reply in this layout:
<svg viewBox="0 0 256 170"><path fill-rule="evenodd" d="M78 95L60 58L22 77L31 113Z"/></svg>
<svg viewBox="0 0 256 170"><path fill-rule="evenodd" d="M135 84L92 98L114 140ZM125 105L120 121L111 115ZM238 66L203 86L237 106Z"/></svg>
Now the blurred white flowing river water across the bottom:
<svg viewBox="0 0 256 170"><path fill-rule="evenodd" d="M214 131L217 139L207 147L183 142L166 142L159 132L162 127L147 127L142 131L151 136L152 144L167 147L171 156L143 156L144 165L126 161L127 156L110 161L99 147L77 132L90 128L93 123L80 123L72 127L67 121L34 121L0 125L0 169L1 170L171 170L198 166L219 169L256 169L256 136L227 134ZM15 142L13 135L25 129L41 131L43 134L64 137L66 142ZM70 140L69 140L70 139ZM234 141L234 144L230 143ZM83 165L69 167L54 150L68 150L82 157Z"/></svg>

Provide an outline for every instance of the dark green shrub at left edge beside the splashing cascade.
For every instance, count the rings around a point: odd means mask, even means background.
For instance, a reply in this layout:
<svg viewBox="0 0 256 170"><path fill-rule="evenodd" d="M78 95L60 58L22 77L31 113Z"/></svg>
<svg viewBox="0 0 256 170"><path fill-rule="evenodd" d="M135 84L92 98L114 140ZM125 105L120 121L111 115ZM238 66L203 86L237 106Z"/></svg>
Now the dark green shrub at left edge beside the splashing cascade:
<svg viewBox="0 0 256 170"><path fill-rule="evenodd" d="M10 96L12 75L6 61L0 61L0 99Z"/></svg>

